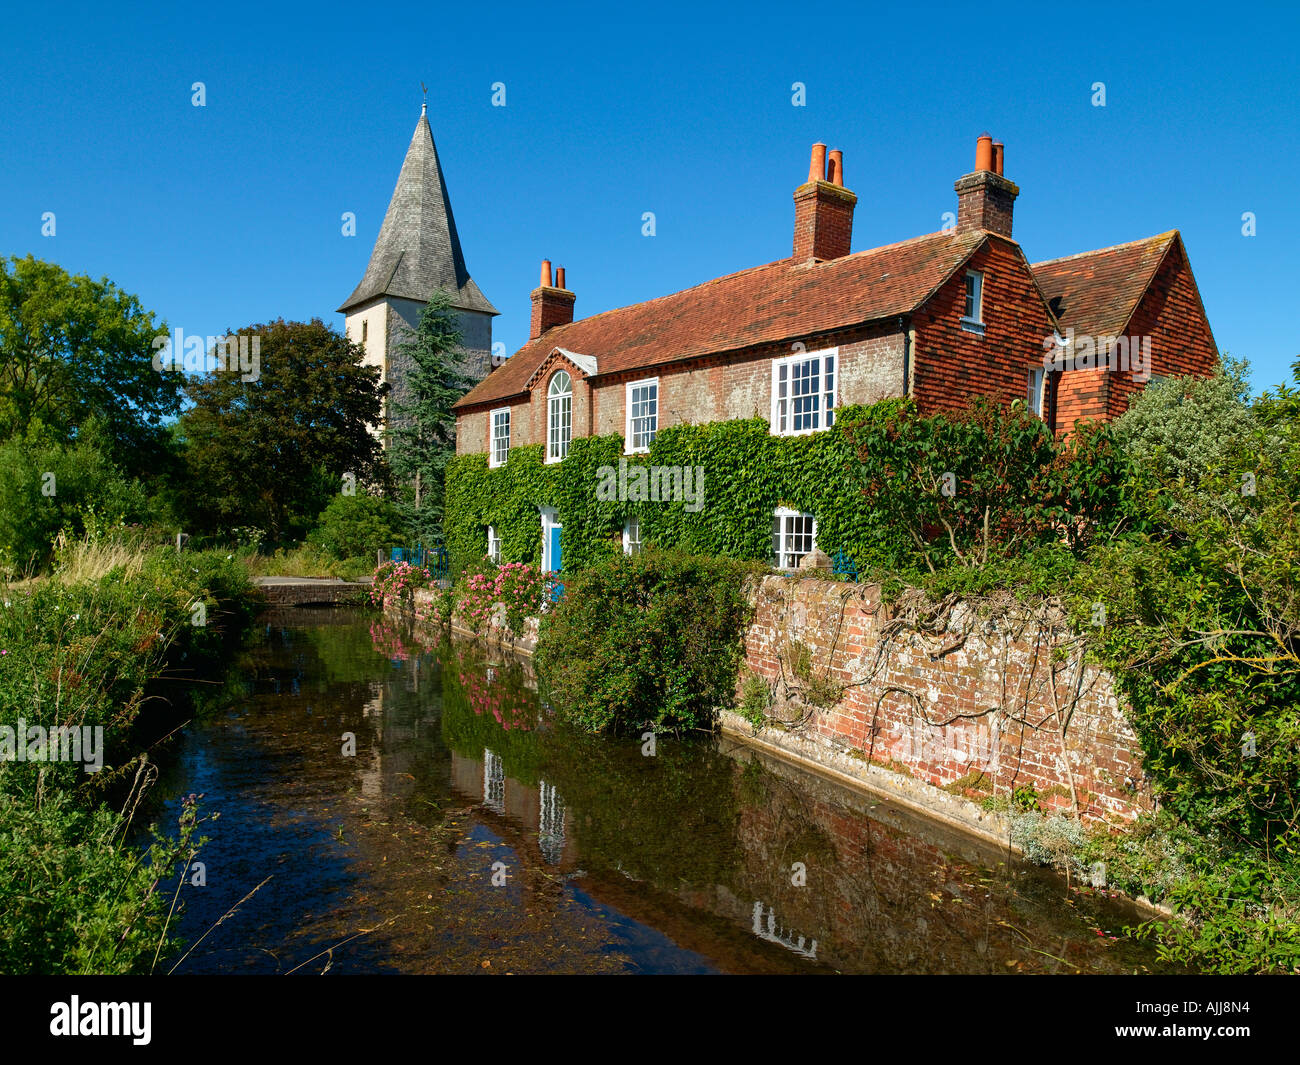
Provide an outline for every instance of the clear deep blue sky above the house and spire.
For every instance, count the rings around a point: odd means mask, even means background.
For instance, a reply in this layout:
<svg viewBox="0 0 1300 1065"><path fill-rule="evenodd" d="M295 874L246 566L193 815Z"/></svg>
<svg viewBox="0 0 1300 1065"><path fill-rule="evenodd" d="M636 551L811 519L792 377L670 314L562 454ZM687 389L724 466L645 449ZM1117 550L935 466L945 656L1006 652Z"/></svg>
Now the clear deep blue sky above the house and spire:
<svg viewBox="0 0 1300 1065"><path fill-rule="evenodd" d="M854 251L935 231L987 129L1006 143L1031 260L1179 229L1216 339L1251 359L1256 388L1300 356L1300 14L1282 5L57 16L5 14L0 254L107 274L187 334L278 316L342 328L422 81L469 270L508 351L526 339L542 257L567 268L586 316L789 255L814 140L844 150Z"/></svg>

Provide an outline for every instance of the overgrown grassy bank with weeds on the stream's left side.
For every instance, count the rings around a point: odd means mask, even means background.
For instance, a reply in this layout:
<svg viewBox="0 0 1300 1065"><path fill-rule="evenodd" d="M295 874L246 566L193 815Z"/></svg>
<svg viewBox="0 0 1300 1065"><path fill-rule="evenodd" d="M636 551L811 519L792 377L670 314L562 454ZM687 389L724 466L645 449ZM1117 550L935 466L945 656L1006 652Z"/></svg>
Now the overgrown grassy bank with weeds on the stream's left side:
<svg viewBox="0 0 1300 1065"><path fill-rule="evenodd" d="M147 973L174 945L200 818L186 802L179 831L134 841L157 776L142 709L222 653L250 593L228 554L112 540L64 545L49 577L3 588L0 973Z"/></svg>

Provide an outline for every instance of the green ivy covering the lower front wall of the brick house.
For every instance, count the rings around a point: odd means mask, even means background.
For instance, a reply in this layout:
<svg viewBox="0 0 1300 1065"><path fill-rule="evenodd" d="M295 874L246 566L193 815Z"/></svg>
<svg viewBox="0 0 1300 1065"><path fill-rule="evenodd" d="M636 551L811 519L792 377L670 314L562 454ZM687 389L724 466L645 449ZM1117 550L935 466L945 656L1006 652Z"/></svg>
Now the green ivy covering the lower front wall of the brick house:
<svg viewBox="0 0 1300 1065"><path fill-rule="evenodd" d="M897 401L906 402L906 401ZM564 527L566 570L592 566L623 550L623 523L637 515L644 544L766 562L772 549L772 514L786 506L815 515L818 546L842 550L858 566L888 553L883 524L862 493L861 463L852 434L890 416L896 401L845 407L831 429L776 437L763 419L672 425L662 429L636 466L703 469L698 507L671 502L602 499L601 467L619 468L623 437L572 441L560 463L546 464L541 445L512 447L503 467L488 455L459 455L447 467L445 529L459 572L488 550L488 527L502 541L504 562L541 564L540 508L555 507ZM632 494L630 492L628 493Z"/></svg>

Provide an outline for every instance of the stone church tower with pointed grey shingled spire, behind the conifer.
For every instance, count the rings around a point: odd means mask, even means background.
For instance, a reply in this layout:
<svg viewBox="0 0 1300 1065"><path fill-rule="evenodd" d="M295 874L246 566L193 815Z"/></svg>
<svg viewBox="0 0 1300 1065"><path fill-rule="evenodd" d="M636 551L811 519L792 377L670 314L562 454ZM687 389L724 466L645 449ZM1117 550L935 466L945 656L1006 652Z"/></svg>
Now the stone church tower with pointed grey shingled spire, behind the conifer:
<svg viewBox="0 0 1300 1065"><path fill-rule="evenodd" d="M456 220L429 129L428 105L411 138L361 283L339 312L348 339L365 348L367 365L391 385L389 404L406 401L408 360L398 347L420 322L429 295L445 290L456 308L462 372L481 381L491 368L491 320L499 313L469 277ZM385 421L391 424L389 411Z"/></svg>

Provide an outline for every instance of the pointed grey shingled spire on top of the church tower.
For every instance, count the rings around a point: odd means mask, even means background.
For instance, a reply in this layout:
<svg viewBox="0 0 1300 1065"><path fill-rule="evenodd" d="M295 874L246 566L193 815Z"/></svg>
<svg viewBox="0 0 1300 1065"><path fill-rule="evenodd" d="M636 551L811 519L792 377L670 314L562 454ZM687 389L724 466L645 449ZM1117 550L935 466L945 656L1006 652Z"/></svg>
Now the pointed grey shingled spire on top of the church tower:
<svg viewBox="0 0 1300 1065"><path fill-rule="evenodd" d="M421 111L365 276L338 309L348 313L384 296L424 303L437 289L462 311L498 313L465 268L433 130Z"/></svg>

